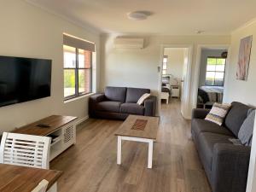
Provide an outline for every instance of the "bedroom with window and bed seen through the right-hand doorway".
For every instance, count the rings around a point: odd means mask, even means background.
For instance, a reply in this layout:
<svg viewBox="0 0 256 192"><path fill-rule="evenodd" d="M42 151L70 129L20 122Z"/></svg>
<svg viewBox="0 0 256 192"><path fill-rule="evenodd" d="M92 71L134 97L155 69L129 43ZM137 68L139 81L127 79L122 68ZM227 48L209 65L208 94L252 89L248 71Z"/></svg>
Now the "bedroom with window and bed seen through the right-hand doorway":
<svg viewBox="0 0 256 192"><path fill-rule="evenodd" d="M201 49L196 108L212 108L214 102L223 102L227 57L228 49Z"/></svg>

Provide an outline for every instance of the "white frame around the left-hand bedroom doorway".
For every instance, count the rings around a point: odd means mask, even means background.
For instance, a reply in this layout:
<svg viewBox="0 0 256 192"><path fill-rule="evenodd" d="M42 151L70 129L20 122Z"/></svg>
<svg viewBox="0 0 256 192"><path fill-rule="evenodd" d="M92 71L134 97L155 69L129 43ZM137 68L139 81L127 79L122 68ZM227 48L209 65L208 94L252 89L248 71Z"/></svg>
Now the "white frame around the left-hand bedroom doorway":
<svg viewBox="0 0 256 192"><path fill-rule="evenodd" d="M160 70L159 73L159 86L158 86L158 92L159 92L159 109L160 109L160 92L162 87L162 67L163 67L163 58L164 58L164 51L165 48L187 48L189 49L189 58L188 58L188 68L187 68L187 79L191 79L191 73L192 73L192 60L193 60L193 44L161 44L160 48L160 66L158 67ZM187 90L187 95L185 96L185 100L189 104L189 90L191 87L191 81L187 84L187 87L185 88ZM187 108L189 110L189 108ZM189 112L186 111L186 113L183 114L183 117L185 119L189 119Z"/></svg>

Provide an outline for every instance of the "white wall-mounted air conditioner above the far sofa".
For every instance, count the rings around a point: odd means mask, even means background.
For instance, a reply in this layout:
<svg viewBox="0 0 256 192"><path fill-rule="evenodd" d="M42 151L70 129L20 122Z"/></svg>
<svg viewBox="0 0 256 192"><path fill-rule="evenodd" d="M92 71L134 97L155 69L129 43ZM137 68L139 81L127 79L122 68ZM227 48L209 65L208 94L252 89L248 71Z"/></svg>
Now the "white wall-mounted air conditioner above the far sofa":
<svg viewBox="0 0 256 192"><path fill-rule="evenodd" d="M115 38L114 47L117 49L143 49L143 38Z"/></svg>

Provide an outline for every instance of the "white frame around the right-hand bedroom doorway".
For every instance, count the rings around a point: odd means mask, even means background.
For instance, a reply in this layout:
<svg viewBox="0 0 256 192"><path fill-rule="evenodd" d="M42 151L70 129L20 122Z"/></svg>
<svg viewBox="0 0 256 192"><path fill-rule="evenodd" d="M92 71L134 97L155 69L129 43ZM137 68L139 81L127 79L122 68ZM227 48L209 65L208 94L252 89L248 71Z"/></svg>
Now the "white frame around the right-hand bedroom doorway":
<svg viewBox="0 0 256 192"><path fill-rule="evenodd" d="M193 86L193 93L192 93L192 108L196 108L197 105L197 94L198 94L198 84L199 84L199 76L200 76L200 67L201 67L201 50L203 48L207 49L227 49L228 50L228 57L226 60L225 66L225 74L224 79L228 79L228 71L230 66L230 44L198 44L197 51L196 51L196 61L195 61L195 75L194 75L194 86ZM224 99L226 101L226 93L227 92L227 81L224 81Z"/></svg>

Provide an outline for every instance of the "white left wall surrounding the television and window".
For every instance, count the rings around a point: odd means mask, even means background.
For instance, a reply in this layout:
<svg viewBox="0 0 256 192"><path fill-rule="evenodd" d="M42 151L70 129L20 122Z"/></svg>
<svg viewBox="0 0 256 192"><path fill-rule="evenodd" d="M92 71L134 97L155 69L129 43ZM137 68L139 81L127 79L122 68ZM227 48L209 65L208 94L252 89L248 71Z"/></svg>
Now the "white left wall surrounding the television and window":
<svg viewBox="0 0 256 192"><path fill-rule="evenodd" d="M0 55L52 60L51 96L0 108L0 132L13 130L50 114L86 116L88 97L66 104L63 102L62 33L95 42L98 53L99 35L22 0L1 1L0 24Z"/></svg>

